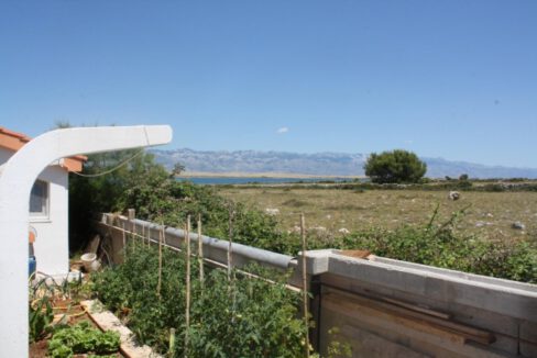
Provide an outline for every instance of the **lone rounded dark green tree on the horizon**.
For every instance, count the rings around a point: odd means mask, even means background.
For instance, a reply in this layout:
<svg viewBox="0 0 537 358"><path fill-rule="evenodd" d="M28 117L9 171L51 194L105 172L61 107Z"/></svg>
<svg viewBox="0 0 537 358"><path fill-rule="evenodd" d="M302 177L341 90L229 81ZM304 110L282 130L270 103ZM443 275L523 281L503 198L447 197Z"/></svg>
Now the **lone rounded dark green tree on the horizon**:
<svg viewBox="0 0 537 358"><path fill-rule="evenodd" d="M371 154L364 169L373 182L417 182L425 176L427 165L414 153L396 149Z"/></svg>

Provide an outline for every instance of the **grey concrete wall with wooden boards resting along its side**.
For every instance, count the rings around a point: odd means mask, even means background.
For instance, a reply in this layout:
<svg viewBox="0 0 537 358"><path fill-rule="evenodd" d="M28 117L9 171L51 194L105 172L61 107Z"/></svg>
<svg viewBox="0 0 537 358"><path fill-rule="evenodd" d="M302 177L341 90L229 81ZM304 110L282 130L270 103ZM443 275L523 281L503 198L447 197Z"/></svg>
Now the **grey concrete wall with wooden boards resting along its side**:
<svg viewBox="0 0 537 358"><path fill-rule="evenodd" d="M307 258L321 351L337 327L355 357L537 357L534 284L337 250Z"/></svg>

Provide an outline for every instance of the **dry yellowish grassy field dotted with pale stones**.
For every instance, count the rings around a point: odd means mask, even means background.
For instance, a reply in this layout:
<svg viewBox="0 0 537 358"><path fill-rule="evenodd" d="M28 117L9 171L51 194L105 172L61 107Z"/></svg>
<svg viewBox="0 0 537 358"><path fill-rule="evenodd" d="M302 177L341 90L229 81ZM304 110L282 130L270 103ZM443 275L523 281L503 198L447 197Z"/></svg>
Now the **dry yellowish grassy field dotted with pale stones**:
<svg viewBox="0 0 537 358"><path fill-rule="evenodd" d="M366 230L374 226L426 225L437 204L439 220L468 208L457 231L490 239L537 239L537 192L462 192L451 201L447 191L371 190L357 192L338 189L288 189L274 187L221 188L219 192L233 201L265 211L277 209L283 230L299 225L299 213L308 227L338 231ZM525 230L512 228L520 222ZM296 228L295 228L296 230Z"/></svg>

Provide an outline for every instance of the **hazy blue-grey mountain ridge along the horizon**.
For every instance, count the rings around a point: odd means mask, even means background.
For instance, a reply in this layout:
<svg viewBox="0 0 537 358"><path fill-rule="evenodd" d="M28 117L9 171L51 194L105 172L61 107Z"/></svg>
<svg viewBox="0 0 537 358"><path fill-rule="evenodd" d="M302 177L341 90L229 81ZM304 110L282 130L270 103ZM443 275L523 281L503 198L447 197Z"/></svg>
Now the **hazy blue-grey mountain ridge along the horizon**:
<svg viewBox="0 0 537 358"><path fill-rule="evenodd" d="M286 172L313 176L363 176L363 164L368 154L314 153L259 150L175 150L152 149L157 163L172 169L176 163L187 171L199 172ZM427 164L427 177L457 178L468 174L471 178L531 178L537 179L537 168L513 168L485 166L467 161L451 161L443 158L423 157Z"/></svg>

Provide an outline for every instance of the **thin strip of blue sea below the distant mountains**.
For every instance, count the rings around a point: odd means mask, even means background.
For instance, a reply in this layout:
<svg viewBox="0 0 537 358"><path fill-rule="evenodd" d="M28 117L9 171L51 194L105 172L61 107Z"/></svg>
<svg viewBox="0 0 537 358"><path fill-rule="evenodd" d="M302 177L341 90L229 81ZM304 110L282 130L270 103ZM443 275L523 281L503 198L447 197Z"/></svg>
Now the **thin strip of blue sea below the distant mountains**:
<svg viewBox="0 0 537 358"><path fill-rule="evenodd" d="M245 177L185 177L177 178L179 181L191 181L205 186L228 186L228 184L282 184L282 183L322 183L352 181L350 178L245 178Z"/></svg>

